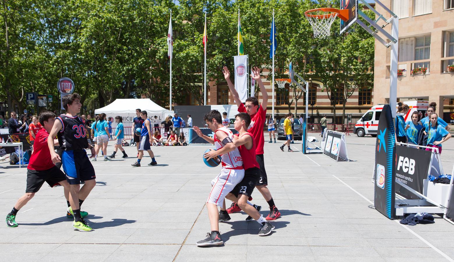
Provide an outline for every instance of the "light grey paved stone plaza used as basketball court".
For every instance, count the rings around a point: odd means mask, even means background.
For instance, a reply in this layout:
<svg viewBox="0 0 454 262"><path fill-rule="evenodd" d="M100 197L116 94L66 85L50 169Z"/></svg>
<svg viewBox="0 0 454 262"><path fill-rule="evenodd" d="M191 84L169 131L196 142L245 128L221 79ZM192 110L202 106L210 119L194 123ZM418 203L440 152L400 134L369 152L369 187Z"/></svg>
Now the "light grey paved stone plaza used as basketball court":
<svg viewBox="0 0 454 262"><path fill-rule="evenodd" d="M78 232L66 218L63 188L43 185L16 218L19 227L0 226L0 261L446 261L454 258L454 225L413 227L389 220L373 207L375 138L347 137L351 162L321 154L281 152L265 142L271 194L282 216L275 230L257 235L259 224L244 213L220 223L221 247L197 247L210 231L205 200L220 168L208 168L208 146L153 147L157 166L133 168L129 158L93 162L97 185L82 210L94 228ZM108 153L113 150L109 143ZM296 141L293 150L301 150ZM454 164L454 139L443 144L445 173ZM119 152L118 152L119 153ZM118 156L118 154L117 154ZM121 154L120 154L121 156ZM10 212L25 192L26 169L0 163L0 214ZM269 212L254 191L253 203ZM227 205L230 206L230 201ZM443 255L447 257L443 257ZM451 260L452 261L452 260Z"/></svg>

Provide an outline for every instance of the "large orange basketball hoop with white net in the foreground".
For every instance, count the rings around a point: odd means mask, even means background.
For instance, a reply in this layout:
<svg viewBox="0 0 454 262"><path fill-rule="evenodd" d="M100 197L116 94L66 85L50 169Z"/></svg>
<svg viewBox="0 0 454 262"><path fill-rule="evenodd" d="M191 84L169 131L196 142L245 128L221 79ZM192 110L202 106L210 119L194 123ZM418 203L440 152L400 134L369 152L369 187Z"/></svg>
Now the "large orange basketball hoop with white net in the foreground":
<svg viewBox="0 0 454 262"><path fill-rule="evenodd" d="M306 19L312 26L314 31L314 37L325 38L330 35L331 25L333 24L336 17L339 16L342 20L348 20L349 10L348 9L336 9L336 8L316 8L307 10L304 12Z"/></svg>

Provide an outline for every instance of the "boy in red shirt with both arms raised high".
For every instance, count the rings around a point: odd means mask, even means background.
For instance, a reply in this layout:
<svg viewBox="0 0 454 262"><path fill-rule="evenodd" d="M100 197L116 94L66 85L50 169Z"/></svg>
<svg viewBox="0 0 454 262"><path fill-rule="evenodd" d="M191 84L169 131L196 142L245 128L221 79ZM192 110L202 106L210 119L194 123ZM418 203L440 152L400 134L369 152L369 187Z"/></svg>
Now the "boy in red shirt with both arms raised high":
<svg viewBox="0 0 454 262"><path fill-rule="evenodd" d="M273 197L271 196L270 190L266 187L268 185L268 178L266 176L265 170L265 163L263 160L263 144L265 142L263 138L263 126L265 125L266 121L266 105L268 104L268 93L266 93L265 86L262 83L262 79L260 76L260 69L255 67L252 69L251 77L257 81L257 84L260 87L260 92L262 92L262 104L260 107L258 106L258 100L255 97L249 97L246 99L246 105L241 103L240 97L238 95L235 86L230 81L230 71L227 69L226 66L222 69L222 73L224 74L224 78L227 81L228 88L232 93L233 99L235 99L235 103L238 106L238 112L240 113L247 113L251 116L251 124L247 127L247 132L252 133L254 136L254 142L257 146L256 149L256 159L257 163L260 166L260 178L256 184L256 187L260 193L262 193L263 198L265 198L266 202L270 206L270 213L266 217L266 220L275 220L281 216L281 213L276 208L274 204ZM232 203L232 206L227 209L228 213L235 213L241 211L241 208L238 207L237 203Z"/></svg>

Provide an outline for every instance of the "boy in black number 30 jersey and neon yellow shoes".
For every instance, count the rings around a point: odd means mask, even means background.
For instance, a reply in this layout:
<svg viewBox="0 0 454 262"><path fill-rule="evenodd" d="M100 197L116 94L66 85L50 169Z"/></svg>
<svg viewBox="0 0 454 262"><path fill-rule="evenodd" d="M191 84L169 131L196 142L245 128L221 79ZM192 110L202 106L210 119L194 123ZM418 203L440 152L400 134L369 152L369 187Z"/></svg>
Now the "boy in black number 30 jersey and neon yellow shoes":
<svg viewBox="0 0 454 262"><path fill-rule="evenodd" d="M82 107L80 99L81 97L77 93L63 97L63 107L67 113L61 114L55 119L47 144L52 162L62 163L66 180L70 185L69 203L71 207L68 208L68 212L74 216L73 227L79 231L88 232L93 229L80 216L80 205L94 188L96 176L85 152L85 148L88 148L88 140L84 122L77 116ZM57 135L60 147L64 150L61 158L54 151L54 143L51 143L55 135ZM80 188L81 180L85 181L82 188Z"/></svg>

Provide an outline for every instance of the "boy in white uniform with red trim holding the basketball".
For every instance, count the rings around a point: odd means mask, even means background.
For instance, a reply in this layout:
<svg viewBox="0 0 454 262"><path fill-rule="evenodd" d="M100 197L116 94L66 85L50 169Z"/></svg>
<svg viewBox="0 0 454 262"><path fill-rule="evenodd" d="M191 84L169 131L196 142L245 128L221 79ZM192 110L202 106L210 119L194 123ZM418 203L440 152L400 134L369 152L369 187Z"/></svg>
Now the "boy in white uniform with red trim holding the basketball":
<svg viewBox="0 0 454 262"><path fill-rule="evenodd" d="M214 132L213 138L204 134L198 127L194 127L197 135L207 140L219 148L228 148L222 155L222 170L216 178L211 181L212 188L207 199L208 217L210 219L211 233L207 233L207 238L197 242L197 246L220 246L224 242L219 233L219 213L217 207L223 206L225 196L240 183L244 177L243 161L240 152L232 142L233 133L222 125L221 113L211 110L204 116L204 120Z"/></svg>

